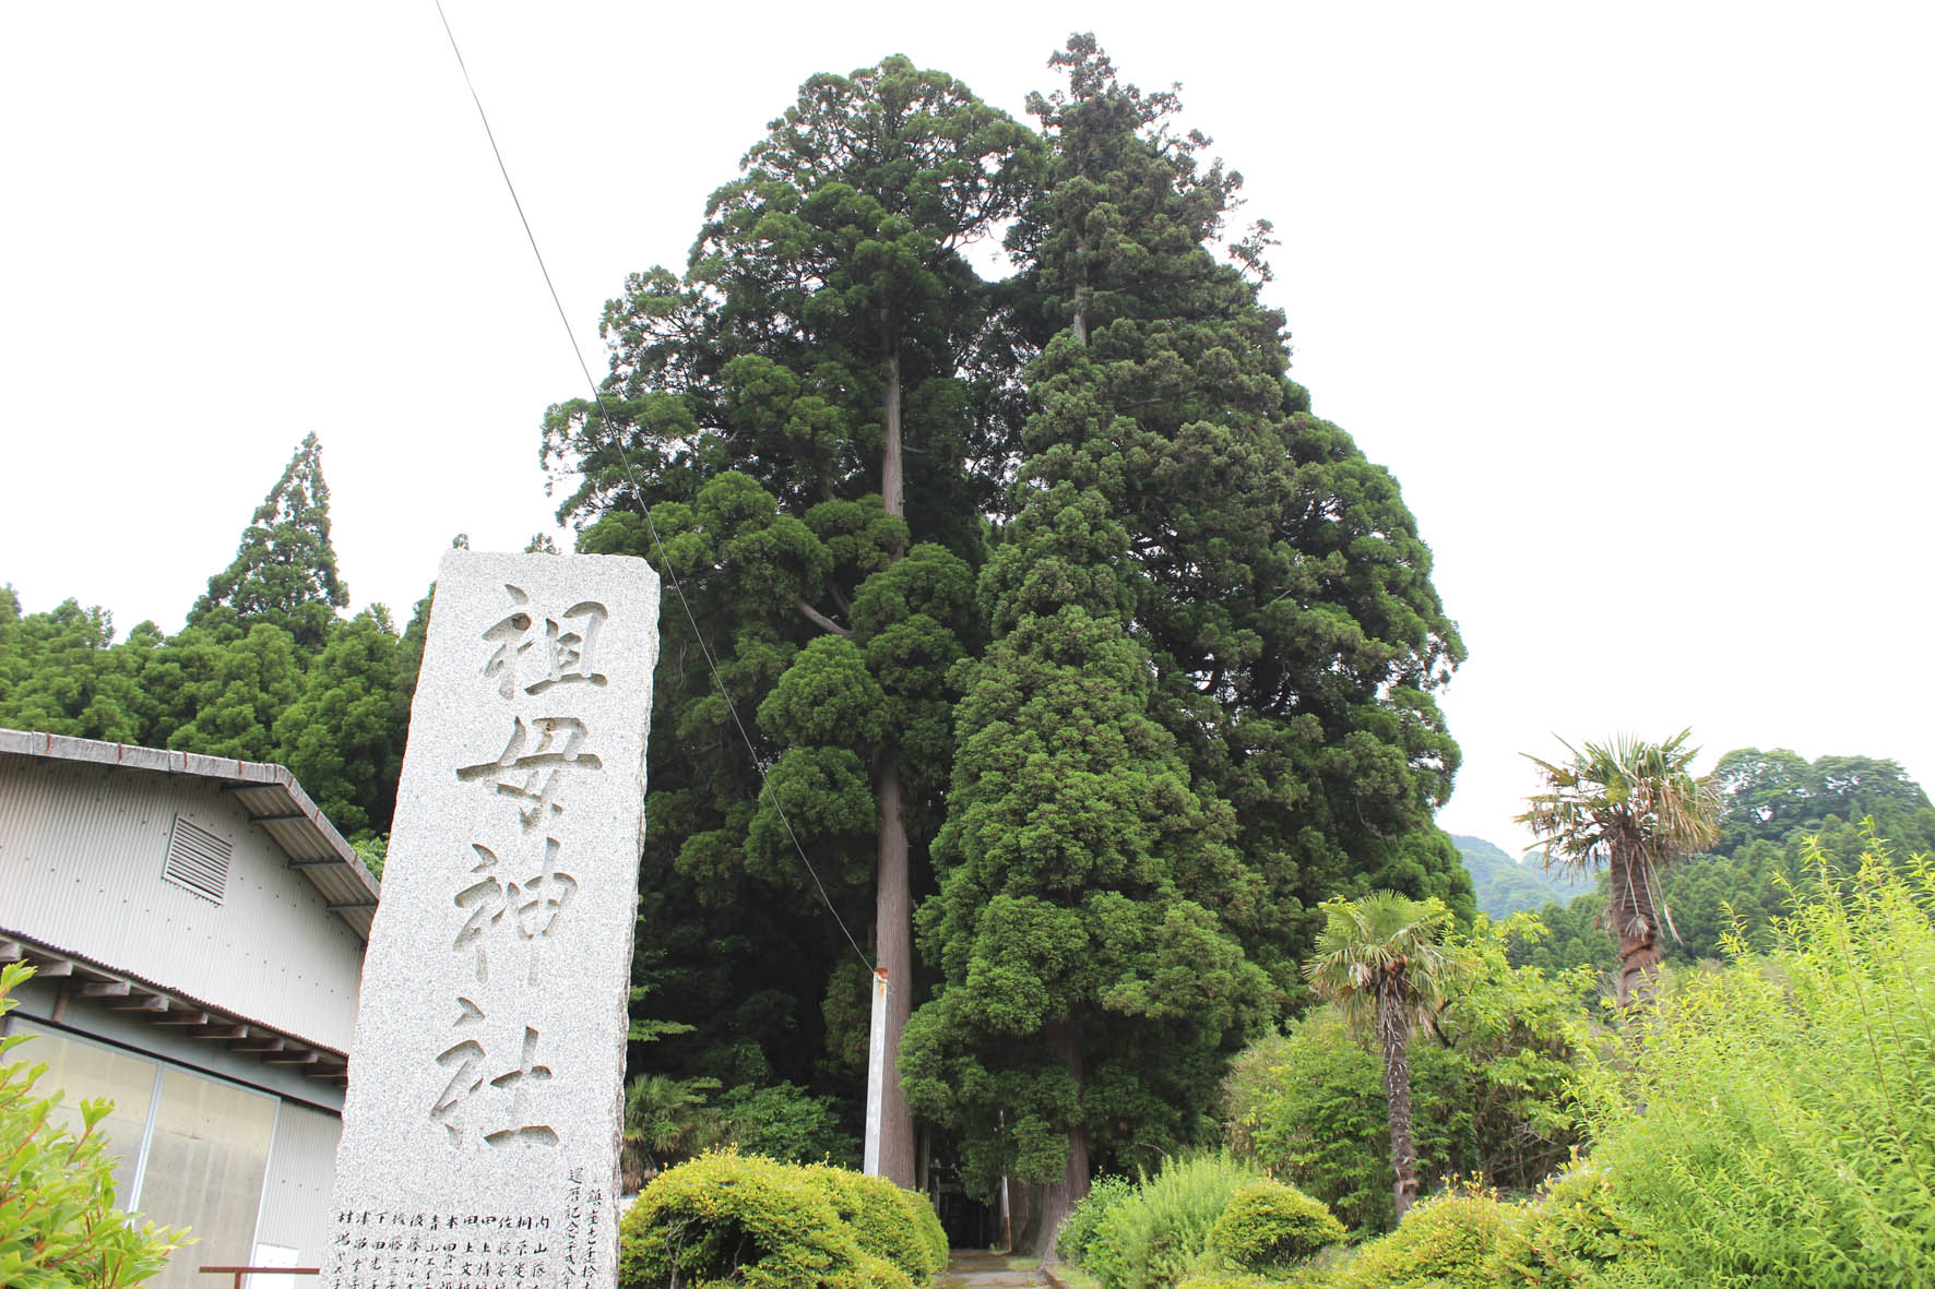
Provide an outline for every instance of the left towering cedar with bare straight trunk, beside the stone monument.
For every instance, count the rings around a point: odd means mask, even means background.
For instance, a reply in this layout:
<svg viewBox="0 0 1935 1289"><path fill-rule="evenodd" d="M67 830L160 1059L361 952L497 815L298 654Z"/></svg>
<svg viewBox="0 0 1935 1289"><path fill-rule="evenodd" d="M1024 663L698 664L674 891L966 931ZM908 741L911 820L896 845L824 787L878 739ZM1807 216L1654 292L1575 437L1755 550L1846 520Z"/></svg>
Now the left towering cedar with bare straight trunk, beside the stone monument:
<svg viewBox="0 0 1935 1289"><path fill-rule="evenodd" d="M580 550L656 561L635 515L652 505L720 679L759 714L789 830L848 892L873 869L894 1045L913 993L913 881L948 772L942 683L971 621L969 563L1000 472L987 463L1010 451L1000 414L1012 366L962 246L1020 209L1037 151L1006 114L900 56L813 77L712 195L683 281L654 269L608 306L615 424L582 401L546 420L546 459L584 476L561 515L598 521ZM687 929L691 950L716 958L749 933L766 950L764 979L712 972L700 993L751 987L776 1004L809 962L834 975L838 1012L855 983L834 972L844 946L811 910L788 826L760 797L675 606L664 633L646 881L677 877L729 914ZM747 890L745 875L768 888ZM772 908L774 881L797 892L791 906ZM760 925L743 915L749 904L776 915ZM803 1047L770 1022L741 1035L766 1039L760 1055ZM776 1072L733 1047L714 1043L702 1072ZM913 1183L892 1059L882 1167Z"/></svg>

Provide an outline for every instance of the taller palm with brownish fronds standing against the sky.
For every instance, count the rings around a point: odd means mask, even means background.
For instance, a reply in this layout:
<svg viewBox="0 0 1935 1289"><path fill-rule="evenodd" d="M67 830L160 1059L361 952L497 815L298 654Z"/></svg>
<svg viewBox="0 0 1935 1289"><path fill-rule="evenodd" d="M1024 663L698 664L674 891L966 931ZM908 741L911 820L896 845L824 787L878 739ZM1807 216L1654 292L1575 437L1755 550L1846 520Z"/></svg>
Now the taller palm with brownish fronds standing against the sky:
<svg viewBox="0 0 1935 1289"><path fill-rule="evenodd" d="M1664 743L1622 734L1585 751L1562 739L1571 753L1563 764L1527 757L1546 790L1525 799L1531 809L1517 821L1544 844L1546 867L1606 865L1606 921L1620 937L1620 1006L1652 995L1660 925L1680 939L1660 898L1660 875L1720 834L1720 799L1687 768L1699 755L1685 745L1691 734L1682 730Z"/></svg>

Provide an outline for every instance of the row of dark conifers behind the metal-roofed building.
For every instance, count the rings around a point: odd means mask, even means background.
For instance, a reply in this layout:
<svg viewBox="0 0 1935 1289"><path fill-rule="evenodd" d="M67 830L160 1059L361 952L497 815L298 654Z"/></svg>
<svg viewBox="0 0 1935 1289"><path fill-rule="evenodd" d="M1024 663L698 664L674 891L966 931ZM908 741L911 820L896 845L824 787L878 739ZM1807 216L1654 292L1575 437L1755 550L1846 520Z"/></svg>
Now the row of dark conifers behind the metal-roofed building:
<svg viewBox="0 0 1935 1289"><path fill-rule="evenodd" d="M383 606L339 617L346 594L312 434L174 635L145 621L116 643L101 608L21 614L0 586L0 726L286 764L344 836L375 838L395 813L428 602L412 644Z"/></svg>

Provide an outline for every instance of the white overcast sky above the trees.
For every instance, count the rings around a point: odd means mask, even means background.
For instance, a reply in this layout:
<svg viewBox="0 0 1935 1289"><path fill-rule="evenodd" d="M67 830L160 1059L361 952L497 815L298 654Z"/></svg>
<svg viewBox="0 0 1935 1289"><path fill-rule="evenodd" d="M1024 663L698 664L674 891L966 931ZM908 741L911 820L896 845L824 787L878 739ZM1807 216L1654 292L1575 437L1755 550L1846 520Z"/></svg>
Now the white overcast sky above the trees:
<svg viewBox="0 0 1935 1289"><path fill-rule="evenodd" d="M1935 8L445 0L594 372L813 72L1020 114L1093 29L1275 221L1471 662L1442 823L1691 726L1935 780ZM356 606L551 526L584 393L432 0L0 6L0 583L180 625L308 432Z"/></svg>

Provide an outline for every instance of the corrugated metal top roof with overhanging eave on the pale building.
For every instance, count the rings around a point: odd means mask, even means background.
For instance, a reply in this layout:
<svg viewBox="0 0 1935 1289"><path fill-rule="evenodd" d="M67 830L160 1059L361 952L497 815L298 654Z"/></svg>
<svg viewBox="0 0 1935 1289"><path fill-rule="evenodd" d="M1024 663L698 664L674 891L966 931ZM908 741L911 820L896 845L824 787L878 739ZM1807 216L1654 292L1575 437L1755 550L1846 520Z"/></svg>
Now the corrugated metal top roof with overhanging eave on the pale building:
<svg viewBox="0 0 1935 1289"><path fill-rule="evenodd" d="M310 879L329 910L370 943L381 886L284 766L29 730L0 730L0 753L215 780L223 792L236 794L250 823L288 855L288 867Z"/></svg>

